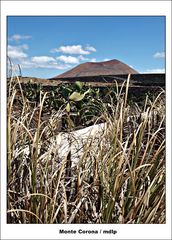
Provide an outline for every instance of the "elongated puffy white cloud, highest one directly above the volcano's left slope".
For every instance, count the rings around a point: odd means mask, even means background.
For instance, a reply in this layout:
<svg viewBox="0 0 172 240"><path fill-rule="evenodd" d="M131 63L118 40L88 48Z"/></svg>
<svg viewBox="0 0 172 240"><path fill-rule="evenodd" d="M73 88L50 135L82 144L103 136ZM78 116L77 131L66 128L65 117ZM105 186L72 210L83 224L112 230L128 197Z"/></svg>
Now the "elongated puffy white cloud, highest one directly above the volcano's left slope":
<svg viewBox="0 0 172 240"><path fill-rule="evenodd" d="M71 45L71 46L61 46L59 48L54 48L51 52L62 52L64 54L80 54L88 55L91 52L95 52L96 49L92 46L86 46L85 48L82 45Z"/></svg>

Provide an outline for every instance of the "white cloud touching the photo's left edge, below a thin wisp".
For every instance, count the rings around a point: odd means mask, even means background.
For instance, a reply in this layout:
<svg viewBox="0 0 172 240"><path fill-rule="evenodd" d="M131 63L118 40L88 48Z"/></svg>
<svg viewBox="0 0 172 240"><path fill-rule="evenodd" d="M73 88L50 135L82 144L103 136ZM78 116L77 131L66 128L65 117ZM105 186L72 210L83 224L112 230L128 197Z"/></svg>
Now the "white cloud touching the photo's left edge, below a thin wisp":
<svg viewBox="0 0 172 240"><path fill-rule="evenodd" d="M8 45L8 57L10 57L11 59L27 58L28 55L23 51L26 49L28 49L28 46L26 44L20 46Z"/></svg>

